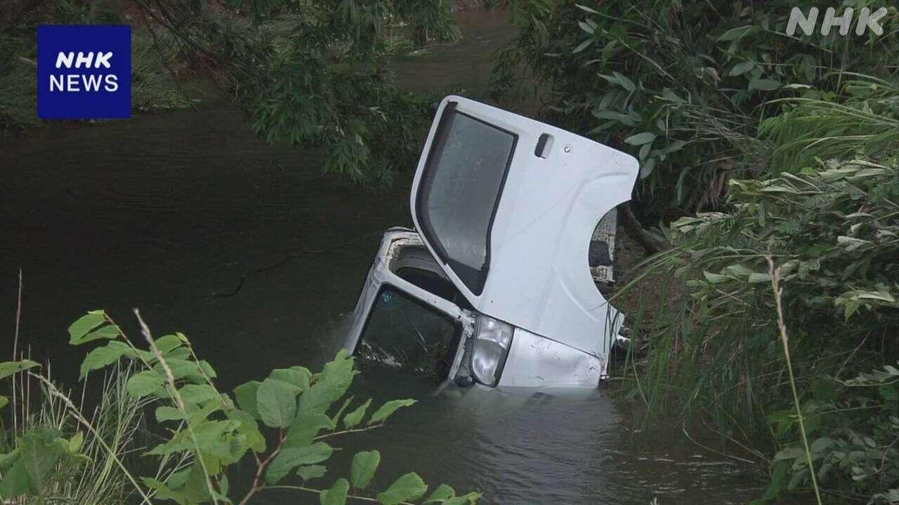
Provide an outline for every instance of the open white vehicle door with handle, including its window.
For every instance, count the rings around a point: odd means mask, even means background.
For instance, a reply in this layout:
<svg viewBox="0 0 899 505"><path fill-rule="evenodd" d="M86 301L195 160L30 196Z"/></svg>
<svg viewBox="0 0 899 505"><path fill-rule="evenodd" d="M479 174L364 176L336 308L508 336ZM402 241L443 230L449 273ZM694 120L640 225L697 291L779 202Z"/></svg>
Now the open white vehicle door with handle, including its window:
<svg viewBox="0 0 899 505"><path fill-rule="evenodd" d="M424 243L485 315L605 358L622 323L593 283L593 229L630 199L633 156L448 96L412 188Z"/></svg>

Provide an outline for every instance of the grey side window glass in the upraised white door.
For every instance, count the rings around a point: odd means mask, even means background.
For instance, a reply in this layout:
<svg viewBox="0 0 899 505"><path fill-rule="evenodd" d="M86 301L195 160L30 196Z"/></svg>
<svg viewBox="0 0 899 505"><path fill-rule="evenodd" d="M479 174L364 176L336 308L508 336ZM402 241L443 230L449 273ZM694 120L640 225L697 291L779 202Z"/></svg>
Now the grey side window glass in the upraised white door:
<svg viewBox="0 0 899 505"><path fill-rule="evenodd" d="M484 289L490 227L517 136L444 109L417 200L423 233L472 293Z"/></svg>

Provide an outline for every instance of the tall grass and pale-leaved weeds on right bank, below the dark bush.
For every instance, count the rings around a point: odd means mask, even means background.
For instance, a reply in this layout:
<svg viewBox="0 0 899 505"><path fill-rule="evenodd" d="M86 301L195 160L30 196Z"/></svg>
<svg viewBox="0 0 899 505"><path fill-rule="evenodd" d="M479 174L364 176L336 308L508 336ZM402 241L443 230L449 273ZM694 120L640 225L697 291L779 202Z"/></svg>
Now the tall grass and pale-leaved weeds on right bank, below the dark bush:
<svg viewBox="0 0 899 505"><path fill-rule="evenodd" d="M675 246L616 295L665 279L654 289L672 295L640 324L649 357L622 373L651 416L699 421L770 463L766 498L899 487L899 91L843 83L765 120L760 179L729 182L722 212L675 221Z"/></svg>

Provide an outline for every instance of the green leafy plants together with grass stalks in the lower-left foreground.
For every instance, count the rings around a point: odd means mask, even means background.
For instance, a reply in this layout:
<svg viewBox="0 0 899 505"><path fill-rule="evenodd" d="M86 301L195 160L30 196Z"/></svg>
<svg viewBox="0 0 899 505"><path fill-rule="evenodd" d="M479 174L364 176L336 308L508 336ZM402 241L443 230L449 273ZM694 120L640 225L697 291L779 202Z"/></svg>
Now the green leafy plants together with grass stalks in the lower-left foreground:
<svg viewBox="0 0 899 505"><path fill-rule="evenodd" d="M315 493L323 505L466 505L479 498L477 492L457 496L446 484L428 494L428 484L414 472L377 489L378 450L356 453L349 468L324 465L337 450L334 440L376 430L415 403L393 400L374 408L371 400L354 402L346 393L358 372L343 351L319 373L278 368L229 394L218 390L215 370L182 333L156 339L139 315L138 322L146 347L130 341L102 311L69 327L72 345L101 343L81 365L82 379L108 372L93 415L49 377L34 373L37 363L0 363L0 379L12 377L6 382L13 390L12 426L0 431L4 503L245 505L266 490ZM39 398L28 393L31 382L40 385ZM32 407L32 400L40 403ZM7 403L0 396L0 405ZM141 437L150 409L161 429ZM241 462L254 468L246 489L230 484Z"/></svg>

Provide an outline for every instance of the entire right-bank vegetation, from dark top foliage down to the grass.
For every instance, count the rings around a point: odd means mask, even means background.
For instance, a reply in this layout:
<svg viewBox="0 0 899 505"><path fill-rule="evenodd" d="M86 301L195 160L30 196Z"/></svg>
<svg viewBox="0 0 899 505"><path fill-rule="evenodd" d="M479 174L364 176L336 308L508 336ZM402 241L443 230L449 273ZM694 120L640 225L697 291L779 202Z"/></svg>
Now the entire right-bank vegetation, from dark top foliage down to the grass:
<svg viewBox="0 0 899 505"><path fill-rule="evenodd" d="M882 36L790 37L813 4L505 4L497 93L523 66L547 120L636 155L672 244L622 289L668 279L620 371L647 421L768 465L759 501L899 501L895 6Z"/></svg>

